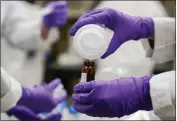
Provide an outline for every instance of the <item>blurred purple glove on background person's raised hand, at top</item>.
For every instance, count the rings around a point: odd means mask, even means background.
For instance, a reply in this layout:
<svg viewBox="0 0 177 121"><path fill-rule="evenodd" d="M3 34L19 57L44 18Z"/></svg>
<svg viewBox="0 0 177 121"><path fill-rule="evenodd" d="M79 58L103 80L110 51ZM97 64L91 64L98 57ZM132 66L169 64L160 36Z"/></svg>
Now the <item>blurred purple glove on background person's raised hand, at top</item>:
<svg viewBox="0 0 177 121"><path fill-rule="evenodd" d="M68 4L66 1L53 1L45 6L52 10L44 16L43 23L47 28L64 25L68 19Z"/></svg>

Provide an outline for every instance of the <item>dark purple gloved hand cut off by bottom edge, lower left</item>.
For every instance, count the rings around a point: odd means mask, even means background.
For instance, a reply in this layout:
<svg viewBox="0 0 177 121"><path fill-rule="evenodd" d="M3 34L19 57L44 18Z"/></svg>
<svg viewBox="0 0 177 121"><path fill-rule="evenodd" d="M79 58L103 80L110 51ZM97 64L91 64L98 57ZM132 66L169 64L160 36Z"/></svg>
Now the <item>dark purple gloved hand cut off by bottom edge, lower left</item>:
<svg viewBox="0 0 177 121"><path fill-rule="evenodd" d="M61 119L61 114L50 114L47 118L43 119L42 117L35 114L32 110L24 106L16 106L12 108L7 113L9 116L15 116L22 121L41 121L41 120L50 120L50 121L59 121Z"/></svg>

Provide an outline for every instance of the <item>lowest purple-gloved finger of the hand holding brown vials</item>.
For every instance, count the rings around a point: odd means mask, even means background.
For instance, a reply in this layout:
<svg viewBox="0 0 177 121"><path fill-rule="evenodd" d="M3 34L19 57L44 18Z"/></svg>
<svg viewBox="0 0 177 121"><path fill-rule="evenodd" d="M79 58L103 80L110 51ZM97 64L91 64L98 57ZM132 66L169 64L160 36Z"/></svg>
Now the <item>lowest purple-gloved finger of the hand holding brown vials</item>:
<svg viewBox="0 0 177 121"><path fill-rule="evenodd" d="M89 113L93 108L93 105L82 105L77 102L73 103L73 108L80 113Z"/></svg>

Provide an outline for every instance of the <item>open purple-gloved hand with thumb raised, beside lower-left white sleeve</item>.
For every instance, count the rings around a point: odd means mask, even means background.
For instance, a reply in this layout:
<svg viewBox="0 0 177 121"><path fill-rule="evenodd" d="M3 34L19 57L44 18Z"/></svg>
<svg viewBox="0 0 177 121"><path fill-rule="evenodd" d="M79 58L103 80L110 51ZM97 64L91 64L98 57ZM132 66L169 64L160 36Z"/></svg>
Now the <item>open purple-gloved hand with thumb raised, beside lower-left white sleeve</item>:
<svg viewBox="0 0 177 121"><path fill-rule="evenodd" d="M56 96L57 88L60 88L60 79L55 79L49 84L34 88L23 88L22 97L17 106L22 105L31 109L34 113L50 112L59 102L63 101L67 93L64 89ZM56 92L55 92L56 91ZM60 95L61 94L61 95Z"/></svg>

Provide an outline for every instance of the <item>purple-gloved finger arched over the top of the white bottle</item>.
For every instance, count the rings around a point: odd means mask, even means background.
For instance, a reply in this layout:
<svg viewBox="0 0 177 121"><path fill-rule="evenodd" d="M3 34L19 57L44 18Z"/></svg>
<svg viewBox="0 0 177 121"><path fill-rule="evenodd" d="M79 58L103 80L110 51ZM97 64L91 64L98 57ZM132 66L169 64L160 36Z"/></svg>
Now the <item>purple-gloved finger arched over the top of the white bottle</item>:
<svg viewBox="0 0 177 121"><path fill-rule="evenodd" d="M105 14L105 13L102 12L100 14L91 15L89 17L79 20L71 28L70 35L74 36L79 28L81 28L82 26L87 25L87 24L104 24L105 21L101 21L102 19L104 19L103 14Z"/></svg>

